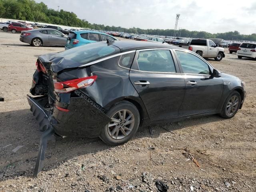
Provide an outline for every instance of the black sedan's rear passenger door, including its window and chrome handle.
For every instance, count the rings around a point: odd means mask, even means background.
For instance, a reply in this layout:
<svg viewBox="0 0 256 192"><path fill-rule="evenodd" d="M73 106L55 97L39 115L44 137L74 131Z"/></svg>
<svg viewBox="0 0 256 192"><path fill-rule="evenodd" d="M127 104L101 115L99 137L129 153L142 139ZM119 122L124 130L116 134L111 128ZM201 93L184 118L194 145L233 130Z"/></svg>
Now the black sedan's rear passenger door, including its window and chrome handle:
<svg viewBox="0 0 256 192"><path fill-rule="evenodd" d="M171 50L137 51L129 77L150 119L178 116L185 94L185 82Z"/></svg>

